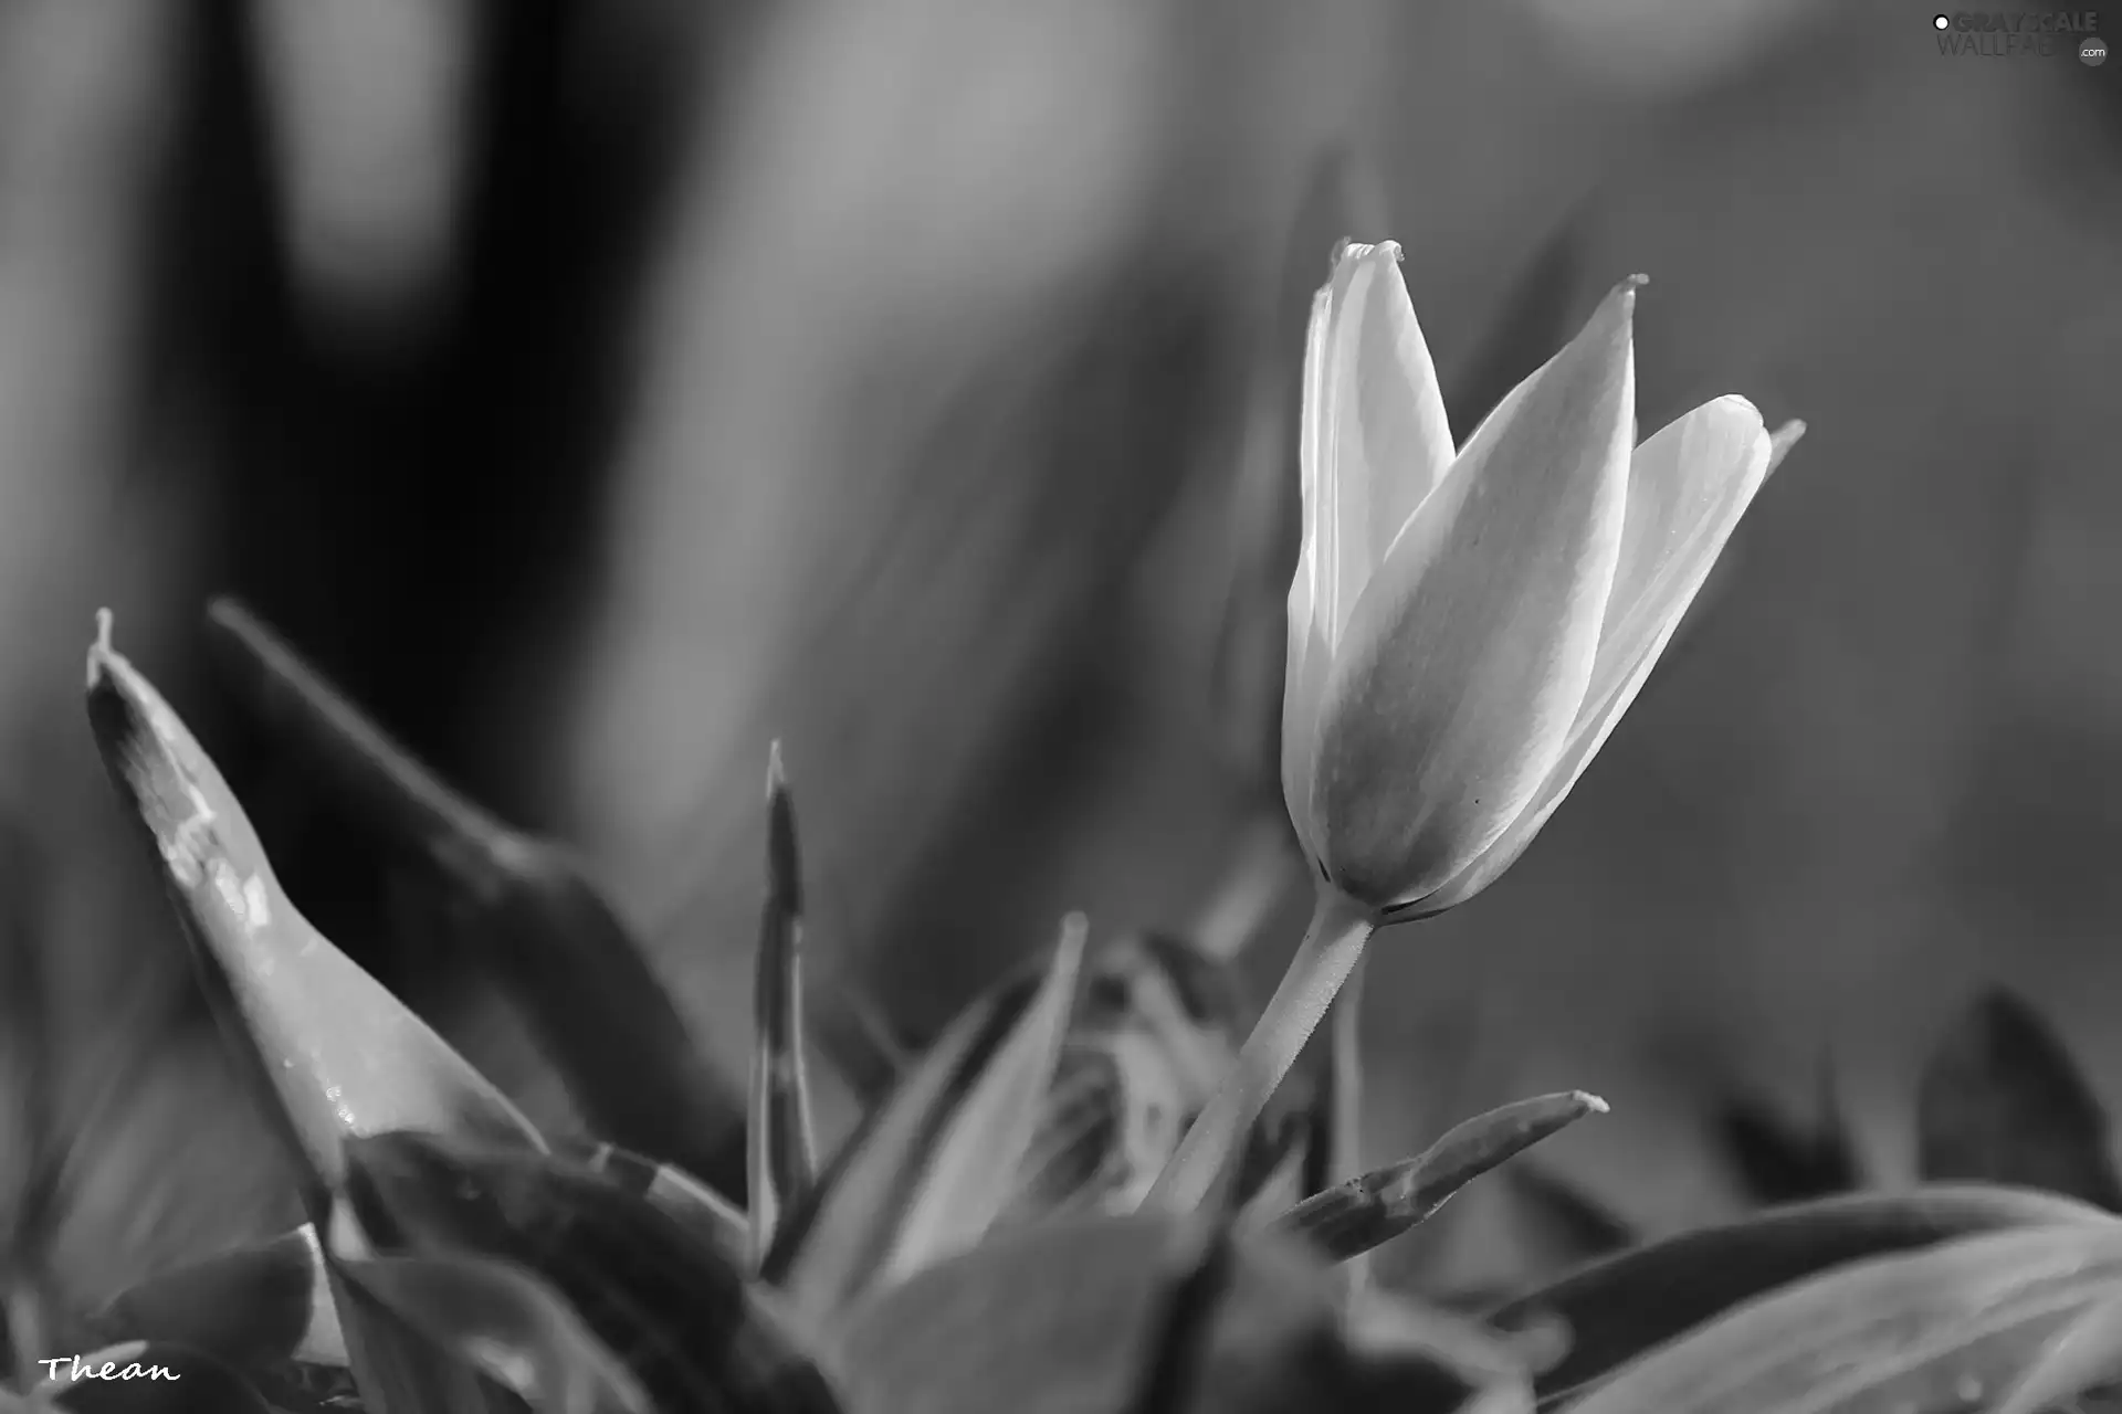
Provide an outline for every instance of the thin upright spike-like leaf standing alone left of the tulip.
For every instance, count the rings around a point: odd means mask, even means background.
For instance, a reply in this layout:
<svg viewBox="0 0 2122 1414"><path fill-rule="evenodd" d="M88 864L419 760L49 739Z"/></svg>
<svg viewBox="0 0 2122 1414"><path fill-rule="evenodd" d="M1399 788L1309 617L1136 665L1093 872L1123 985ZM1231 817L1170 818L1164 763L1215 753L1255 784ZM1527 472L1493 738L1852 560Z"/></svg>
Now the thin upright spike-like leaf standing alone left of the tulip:
<svg viewBox="0 0 2122 1414"><path fill-rule="evenodd" d="M753 1263L772 1244L781 1213L817 1183L811 1090L802 1041L802 869L796 808L781 774L781 742L766 765L766 905L751 998L751 1113L747 1206Z"/></svg>

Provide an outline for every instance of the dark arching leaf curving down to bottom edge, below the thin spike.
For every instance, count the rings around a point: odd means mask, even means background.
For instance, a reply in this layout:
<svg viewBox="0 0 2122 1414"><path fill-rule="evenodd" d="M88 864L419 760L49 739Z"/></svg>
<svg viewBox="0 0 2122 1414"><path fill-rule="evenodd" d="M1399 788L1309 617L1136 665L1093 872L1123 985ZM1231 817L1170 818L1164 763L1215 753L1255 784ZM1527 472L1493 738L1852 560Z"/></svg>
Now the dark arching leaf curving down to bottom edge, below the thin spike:
<svg viewBox="0 0 2122 1414"><path fill-rule="evenodd" d="M348 1164L348 1213L376 1253L530 1270L656 1408L838 1410L770 1293L715 1242L603 1174L560 1155L414 1132L361 1138Z"/></svg>

